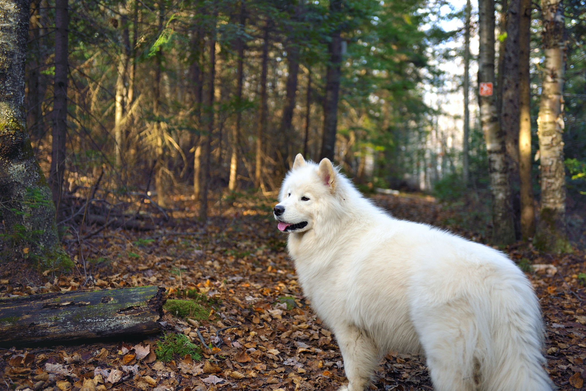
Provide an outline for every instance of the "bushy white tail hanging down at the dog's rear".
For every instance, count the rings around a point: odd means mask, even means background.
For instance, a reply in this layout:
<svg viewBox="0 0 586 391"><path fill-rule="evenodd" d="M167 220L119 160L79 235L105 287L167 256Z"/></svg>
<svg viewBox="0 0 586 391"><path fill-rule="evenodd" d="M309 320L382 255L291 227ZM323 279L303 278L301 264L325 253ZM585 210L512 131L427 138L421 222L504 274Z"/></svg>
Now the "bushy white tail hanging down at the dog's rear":
<svg viewBox="0 0 586 391"><path fill-rule="evenodd" d="M489 293L491 325L485 329L488 355L479 365L481 389L551 391L551 380L542 368L544 328L539 302L520 271L506 280L493 285Z"/></svg>

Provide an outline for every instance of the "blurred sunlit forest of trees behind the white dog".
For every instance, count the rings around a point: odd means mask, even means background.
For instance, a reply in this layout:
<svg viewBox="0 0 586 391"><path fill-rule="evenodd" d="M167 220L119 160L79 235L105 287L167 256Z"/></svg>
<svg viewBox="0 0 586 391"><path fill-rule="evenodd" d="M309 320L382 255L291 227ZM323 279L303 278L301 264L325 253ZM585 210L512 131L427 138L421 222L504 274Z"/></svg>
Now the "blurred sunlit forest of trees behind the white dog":
<svg viewBox="0 0 586 391"><path fill-rule="evenodd" d="M570 240L584 246L586 4L556 4L565 16L565 218ZM515 6L519 0L493 6L498 105L509 80L506 23ZM59 10L68 21L57 17ZM63 185L53 198L65 237L95 232L84 224L149 229L141 216L151 210L168 217L178 200L193 200L194 221L205 221L208 205L222 213L235 194L274 198L301 152L333 159L363 192L433 195L461 210L454 223L492 239L476 4L33 0L29 22L26 121L47 178L62 149ZM64 58L56 51L59 23L69 29ZM545 53L537 4L529 31L530 170L538 210ZM66 80L57 84L63 62ZM55 85L64 86L67 98L63 148L54 141ZM514 198L518 181L510 186ZM134 217L115 222L110 215ZM521 239L518 223L515 239Z"/></svg>

